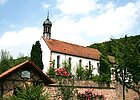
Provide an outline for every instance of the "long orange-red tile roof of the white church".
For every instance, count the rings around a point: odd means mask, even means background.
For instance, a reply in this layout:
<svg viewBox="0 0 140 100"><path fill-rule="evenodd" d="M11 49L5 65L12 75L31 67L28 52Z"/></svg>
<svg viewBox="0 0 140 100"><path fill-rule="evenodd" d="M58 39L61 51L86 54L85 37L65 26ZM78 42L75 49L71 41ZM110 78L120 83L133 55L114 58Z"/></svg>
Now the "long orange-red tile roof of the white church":
<svg viewBox="0 0 140 100"><path fill-rule="evenodd" d="M42 38L48 45L49 49L53 52L100 60L101 53L97 49L75 45L55 39Z"/></svg>

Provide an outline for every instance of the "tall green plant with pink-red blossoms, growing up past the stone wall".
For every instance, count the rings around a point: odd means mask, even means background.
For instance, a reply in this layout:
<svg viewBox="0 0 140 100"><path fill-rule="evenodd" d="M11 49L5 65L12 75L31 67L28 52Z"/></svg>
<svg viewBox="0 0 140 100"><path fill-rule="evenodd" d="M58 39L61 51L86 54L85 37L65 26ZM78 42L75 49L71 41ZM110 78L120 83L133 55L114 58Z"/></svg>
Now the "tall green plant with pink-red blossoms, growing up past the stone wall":
<svg viewBox="0 0 140 100"><path fill-rule="evenodd" d="M55 75L58 80L58 91L55 100L75 100L77 95L77 90L74 88L74 79L71 74L71 67L65 61L61 68L55 69Z"/></svg>

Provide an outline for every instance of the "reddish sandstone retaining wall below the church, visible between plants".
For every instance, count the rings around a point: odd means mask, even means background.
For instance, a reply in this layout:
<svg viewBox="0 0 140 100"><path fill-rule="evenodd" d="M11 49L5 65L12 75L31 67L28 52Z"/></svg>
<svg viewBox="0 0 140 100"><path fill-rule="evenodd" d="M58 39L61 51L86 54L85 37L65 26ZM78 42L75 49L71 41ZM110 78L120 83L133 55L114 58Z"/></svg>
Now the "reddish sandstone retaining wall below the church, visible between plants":
<svg viewBox="0 0 140 100"><path fill-rule="evenodd" d="M122 85L119 83L111 83L110 88L108 87L99 87L97 82L93 81L75 81L75 89L78 90L78 93L84 93L87 90L92 91L94 94L104 95L105 100L123 100L122 99ZM61 96L57 96L58 85L48 85L46 90L51 94L51 100L61 100ZM137 93L131 89L128 89L126 92L126 100L134 100L135 97L138 97Z"/></svg>

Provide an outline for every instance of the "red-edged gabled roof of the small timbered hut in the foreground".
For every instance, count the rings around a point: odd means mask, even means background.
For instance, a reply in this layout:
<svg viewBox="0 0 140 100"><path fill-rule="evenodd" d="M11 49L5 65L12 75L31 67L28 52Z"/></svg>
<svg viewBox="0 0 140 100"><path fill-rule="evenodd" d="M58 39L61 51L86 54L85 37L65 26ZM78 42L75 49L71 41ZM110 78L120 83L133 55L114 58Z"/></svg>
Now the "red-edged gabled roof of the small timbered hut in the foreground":
<svg viewBox="0 0 140 100"><path fill-rule="evenodd" d="M46 74L44 74L42 72L41 69L39 69L32 61L29 61L29 60L27 60L21 64L18 64L16 66L10 68L9 70L3 72L2 74L0 74L0 80L4 79L7 75L11 74L12 72L16 71L17 69L25 67L24 65L26 65L26 64L29 64L29 65L31 65L29 67L36 69L39 72L39 74L41 75L41 78L44 79L47 84L54 83Z"/></svg>

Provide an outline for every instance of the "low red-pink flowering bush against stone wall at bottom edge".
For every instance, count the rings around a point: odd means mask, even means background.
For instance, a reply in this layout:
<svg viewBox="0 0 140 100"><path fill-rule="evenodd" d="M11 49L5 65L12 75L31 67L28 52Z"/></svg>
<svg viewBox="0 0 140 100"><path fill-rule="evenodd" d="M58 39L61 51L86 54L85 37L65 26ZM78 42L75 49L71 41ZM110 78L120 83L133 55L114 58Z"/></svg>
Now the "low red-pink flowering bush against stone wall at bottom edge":
<svg viewBox="0 0 140 100"><path fill-rule="evenodd" d="M85 93L78 93L78 100L105 100L102 94L93 93L92 90L86 90Z"/></svg>

